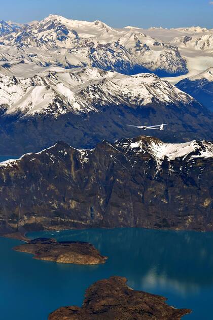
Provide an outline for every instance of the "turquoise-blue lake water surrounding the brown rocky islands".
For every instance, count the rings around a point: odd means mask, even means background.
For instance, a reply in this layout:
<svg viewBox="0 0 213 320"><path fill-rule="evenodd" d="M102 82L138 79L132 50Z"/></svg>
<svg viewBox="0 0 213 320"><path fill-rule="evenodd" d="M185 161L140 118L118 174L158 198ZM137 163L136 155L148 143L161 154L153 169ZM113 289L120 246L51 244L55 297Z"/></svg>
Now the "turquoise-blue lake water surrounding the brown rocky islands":
<svg viewBox="0 0 213 320"><path fill-rule="evenodd" d="M213 233L135 228L29 233L94 244L109 259L104 265L78 266L33 260L16 252L18 240L0 238L0 310L4 320L45 320L60 306L81 306L87 287L112 275L125 276L136 290L191 308L184 319L212 318Z"/></svg>

